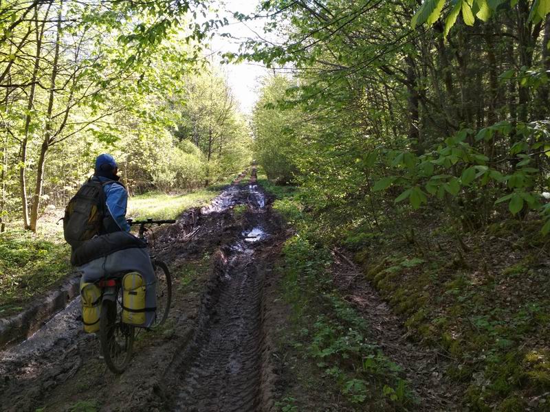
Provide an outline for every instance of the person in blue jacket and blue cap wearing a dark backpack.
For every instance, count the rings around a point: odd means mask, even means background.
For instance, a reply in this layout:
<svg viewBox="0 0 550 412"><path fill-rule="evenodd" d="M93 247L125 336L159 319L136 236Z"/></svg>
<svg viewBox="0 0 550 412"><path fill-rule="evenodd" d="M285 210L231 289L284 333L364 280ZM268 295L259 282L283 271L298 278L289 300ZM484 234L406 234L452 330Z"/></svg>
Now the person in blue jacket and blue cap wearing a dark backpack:
<svg viewBox="0 0 550 412"><path fill-rule="evenodd" d="M146 244L129 233L130 225L126 221L128 192L120 183L117 173L118 165L111 155L103 154L96 158L94 176L91 176L83 188L86 185L89 187L101 185L102 193L98 193L100 207L94 209L96 212L91 212L87 220L87 222L98 221L99 233L94 233L94 236L88 240L78 242L77 247L74 247L73 242L71 261L77 266L77 270L83 273L81 284L129 272L139 273L146 286L146 320L141 326L148 327L155 320L155 271ZM97 189L96 192L98 192ZM80 196L80 198L83 197L85 196ZM78 194L75 198L78 201ZM67 229L65 229L65 238L67 238ZM80 236L80 238L83 237Z"/></svg>

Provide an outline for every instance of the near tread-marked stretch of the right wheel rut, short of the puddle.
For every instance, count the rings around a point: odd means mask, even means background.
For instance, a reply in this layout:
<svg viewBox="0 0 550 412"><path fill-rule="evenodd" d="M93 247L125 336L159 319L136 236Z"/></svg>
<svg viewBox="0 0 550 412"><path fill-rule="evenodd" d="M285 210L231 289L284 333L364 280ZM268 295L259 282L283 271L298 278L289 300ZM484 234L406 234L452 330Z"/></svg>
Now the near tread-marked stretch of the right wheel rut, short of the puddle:
<svg viewBox="0 0 550 412"><path fill-rule="evenodd" d="M263 276L248 265L252 259L229 255L227 271L217 274L218 296L197 333L198 356L180 374L176 410L258 409Z"/></svg>

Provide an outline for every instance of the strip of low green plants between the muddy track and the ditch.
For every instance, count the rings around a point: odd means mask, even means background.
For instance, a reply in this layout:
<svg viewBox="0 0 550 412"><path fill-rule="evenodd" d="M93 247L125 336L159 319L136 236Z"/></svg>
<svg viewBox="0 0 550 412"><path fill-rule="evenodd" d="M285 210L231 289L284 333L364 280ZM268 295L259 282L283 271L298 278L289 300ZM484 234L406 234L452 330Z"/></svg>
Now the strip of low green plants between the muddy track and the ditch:
<svg viewBox="0 0 550 412"><path fill-rule="evenodd" d="M261 174L259 183L275 194L273 208L298 230L285 242L280 268L283 297L292 308L286 344L313 363L353 409L406 410L415 404L399 365L369 341L368 323L333 286L331 255L309 229L296 188L273 185ZM297 411L296 402L285 395L278 407Z"/></svg>

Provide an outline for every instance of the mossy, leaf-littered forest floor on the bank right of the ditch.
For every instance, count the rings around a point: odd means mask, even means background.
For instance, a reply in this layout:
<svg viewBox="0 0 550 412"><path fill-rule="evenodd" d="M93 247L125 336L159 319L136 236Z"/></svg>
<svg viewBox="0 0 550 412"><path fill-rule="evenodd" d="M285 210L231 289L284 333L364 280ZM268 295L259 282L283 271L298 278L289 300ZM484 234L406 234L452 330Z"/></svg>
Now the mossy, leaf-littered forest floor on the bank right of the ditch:
<svg viewBox="0 0 550 412"><path fill-rule="evenodd" d="M469 409L547 411L550 279L538 231L503 222L465 238L419 233L386 231L358 252L366 277L412 337L452 359L447 374L464 385ZM510 253L512 238L521 246Z"/></svg>

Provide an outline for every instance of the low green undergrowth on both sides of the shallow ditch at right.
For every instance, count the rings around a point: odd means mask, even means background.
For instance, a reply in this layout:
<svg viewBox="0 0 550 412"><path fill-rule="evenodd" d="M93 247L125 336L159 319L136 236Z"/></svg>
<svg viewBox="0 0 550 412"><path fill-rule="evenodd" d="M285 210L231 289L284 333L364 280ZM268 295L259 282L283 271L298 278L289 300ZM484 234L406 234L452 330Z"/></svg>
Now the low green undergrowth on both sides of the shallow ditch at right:
<svg viewBox="0 0 550 412"><path fill-rule="evenodd" d="M384 407L397 408L412 402L398 368L364 340L368 325L333 290L322 244L334 242L355 253L410 339L448 359L446 376L463 388L463 407L550 410L548 241L538 221L502 220L465 233L437 216L342 228L333 215L334 228L320 230L303 190L262 184L297 232L285 245L283 269L293 339L347 399L368 404L377 394L389 397Z"/></svg>

